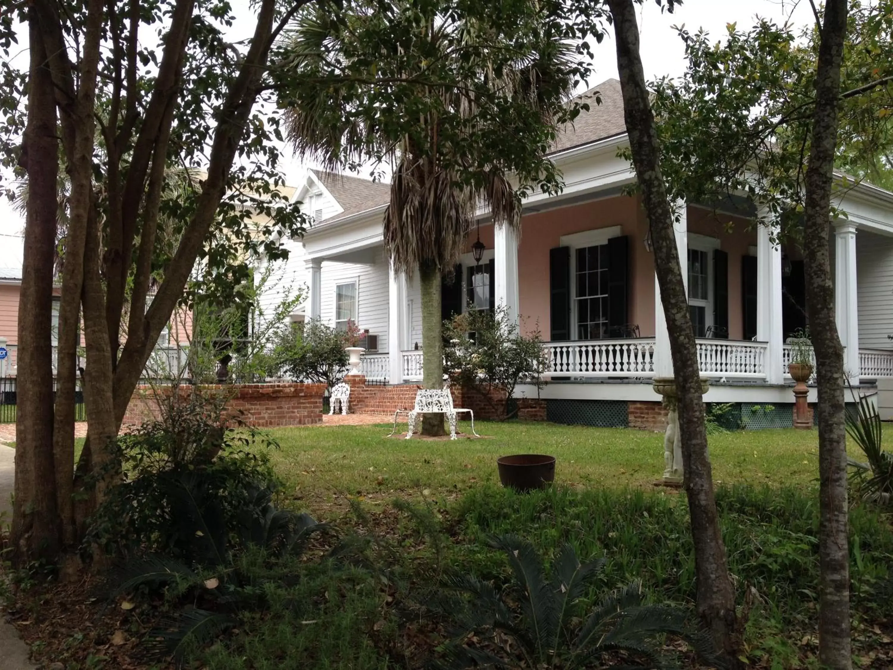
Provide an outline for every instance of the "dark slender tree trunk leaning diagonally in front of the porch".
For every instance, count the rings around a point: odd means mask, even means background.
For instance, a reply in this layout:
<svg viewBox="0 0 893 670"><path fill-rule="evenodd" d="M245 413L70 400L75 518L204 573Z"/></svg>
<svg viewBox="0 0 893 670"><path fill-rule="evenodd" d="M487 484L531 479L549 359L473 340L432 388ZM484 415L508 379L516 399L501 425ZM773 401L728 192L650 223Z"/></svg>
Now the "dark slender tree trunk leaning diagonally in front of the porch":
<svg viewBox="0 0 893 670"><path fill-rule="evenodd" d="M638 185L651 225L655 272L666 315L679 398L684 486L689 499L691 534L695 545L697 613L730 666L740 666L741 635L707 452L697 345L676 248L674 216L661 174L655 118L638 52L636 13L632 0L609 0L608 4L617 40L617 67L620 71L624 117Z"/></svg>

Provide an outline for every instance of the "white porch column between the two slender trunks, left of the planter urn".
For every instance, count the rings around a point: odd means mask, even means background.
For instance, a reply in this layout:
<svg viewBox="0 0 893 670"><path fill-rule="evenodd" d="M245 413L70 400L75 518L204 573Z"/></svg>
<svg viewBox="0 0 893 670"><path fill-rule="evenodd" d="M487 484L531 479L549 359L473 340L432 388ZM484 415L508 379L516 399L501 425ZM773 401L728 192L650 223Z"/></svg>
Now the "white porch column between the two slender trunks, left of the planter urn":
<svg viewBox="0 0 893 670"><path fill-rule="evenodd" d="M756 339L766 342L766 382L784 382L781 350L781 247L773 237L777 227L760 224L756 230Z"/></svg>

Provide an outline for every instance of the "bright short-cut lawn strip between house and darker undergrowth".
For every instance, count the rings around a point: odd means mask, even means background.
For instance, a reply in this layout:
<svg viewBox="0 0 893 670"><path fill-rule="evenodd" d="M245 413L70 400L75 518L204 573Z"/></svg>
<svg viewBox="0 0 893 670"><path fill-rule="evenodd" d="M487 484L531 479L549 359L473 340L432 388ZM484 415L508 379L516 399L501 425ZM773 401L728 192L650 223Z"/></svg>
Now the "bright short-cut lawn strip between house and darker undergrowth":
<svg viewBox="0 0 893 670"><path fill-rule="evenodd" d="M652 488L663 473L663 435L630 429L554 423L478 423L483 440L402 440L389 426L280 428L277 472L299 498L331 494L384 498L441 496L498 482L497 456L556 456L555 481L582 487ZM461 430L468 431L468 424ZM717 483L813 485L818 473L816 431L738 431L712 435Z"/></svg>

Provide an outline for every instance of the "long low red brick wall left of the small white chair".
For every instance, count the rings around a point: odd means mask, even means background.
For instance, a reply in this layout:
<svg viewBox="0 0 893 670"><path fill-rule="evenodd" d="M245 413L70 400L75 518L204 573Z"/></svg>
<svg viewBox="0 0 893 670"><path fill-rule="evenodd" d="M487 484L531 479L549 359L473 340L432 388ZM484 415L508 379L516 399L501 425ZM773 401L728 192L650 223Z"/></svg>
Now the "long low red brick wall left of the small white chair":
<svg viewBox="0 0 893 670"><path fill-rule="evenodd" d="M191 390L188 386L179 387L183 395ZM322 423L325 384L226 384L203 386L202 390L228 396L226 408L230 415L238 415L241 421L257 428ZM130 398L124 424L137 425L158 418L158 392L164 390L138 387Z"/></svg>

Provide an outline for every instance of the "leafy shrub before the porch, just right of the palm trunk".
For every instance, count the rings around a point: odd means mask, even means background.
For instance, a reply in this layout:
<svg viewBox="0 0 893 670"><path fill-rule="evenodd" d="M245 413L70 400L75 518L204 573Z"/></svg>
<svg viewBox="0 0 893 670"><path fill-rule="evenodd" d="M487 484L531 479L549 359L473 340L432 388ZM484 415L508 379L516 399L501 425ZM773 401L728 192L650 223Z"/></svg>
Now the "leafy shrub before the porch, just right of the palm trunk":
<svg viewBox="0 0 893 670"><path fill-rule="evenodd" d="M502 415L517 414L514 389L520 381L542 386L540 375L546 370L547 352L538 330L523 335L504 306L495 313L472 310L445 322L448 345L444 348L446 370L456 384L476 389L497 409L490 392L505 394ZM471 334L471 336L470 336Z"/></svg>

